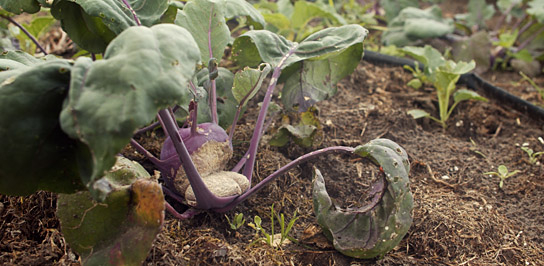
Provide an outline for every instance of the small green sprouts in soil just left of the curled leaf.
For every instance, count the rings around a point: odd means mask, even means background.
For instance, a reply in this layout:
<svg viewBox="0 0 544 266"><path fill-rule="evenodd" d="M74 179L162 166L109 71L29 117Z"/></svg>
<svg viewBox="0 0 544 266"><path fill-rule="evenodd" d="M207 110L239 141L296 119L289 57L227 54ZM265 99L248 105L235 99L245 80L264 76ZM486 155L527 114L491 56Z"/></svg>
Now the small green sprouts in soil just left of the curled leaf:
<svg viewBox="0 0 544 266"><path fill-rule="evenodd" d="M274 234L274 217L278 219L278 224L280 226L280 239L277 241L274 240L274 237L276 236ZM264 241L270 247L279 248L286 239L296 242L294 238L289 236L289 232L291 232L291 229L293 229L293 226L295 225L295 222L298 220L298 218L299 217L297 217L297 211L295 211L295 213L291 217L291 220L289 220L289 223L286 225L285 216L283 215L283 213L276 214L274 212L274 204L272 204L272 206L270 207L270 234L266 233L266 230L262 227L262 219L257 215L255 215L253 223L248 224L251 228L255 229L257 235L259 233L263 235L263 237L257 236L257 239L254 240L252 244L255 244L259 241Z"/></svg>

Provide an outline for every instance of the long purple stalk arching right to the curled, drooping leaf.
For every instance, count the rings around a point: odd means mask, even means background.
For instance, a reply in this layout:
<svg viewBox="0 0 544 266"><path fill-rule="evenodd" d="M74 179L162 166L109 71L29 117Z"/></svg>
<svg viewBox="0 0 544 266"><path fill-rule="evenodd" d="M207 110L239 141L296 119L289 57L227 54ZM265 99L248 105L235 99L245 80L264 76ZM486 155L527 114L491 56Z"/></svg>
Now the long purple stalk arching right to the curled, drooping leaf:
<svg viewBox="0 0 544 266"><path fill-rule="evenodd" d="M352 147L333 146L333 147L328 147L328 148L320 149L320 150L317 150L317 151L313 151L313 152L305 154L305 155L303 155L301 157L298 157L297 159L291 161L290 163L288 163L288 164L284 165L283 167L281 167L280 169L276 170L276 172L272 173L271 175L269 175L268 177L263 179L263 181L261 181L256 186L248 189L244 194L237 197L234 201L229 203L227 206L225 206L223 208L214 209L214 211L226 212L226 211L231 210L236 205L238 205L242 201L246 200L249 196L251 196L254 193L261 190L266 184L270 183L270 181L274 180L276 177L279 177L279 176L283 175L284 173L286 173L287 171L291 170L292 168L294 168L295 166L297 166L297 165L299 165L301 163L304 163L304 162L306 162L308 160L311 160L311 159L313 159L315 157L326 155L326 154L329 154L329 153L334 153L334 152L353 153L354 150L355 150L355 148L352 148Z"/></svg>

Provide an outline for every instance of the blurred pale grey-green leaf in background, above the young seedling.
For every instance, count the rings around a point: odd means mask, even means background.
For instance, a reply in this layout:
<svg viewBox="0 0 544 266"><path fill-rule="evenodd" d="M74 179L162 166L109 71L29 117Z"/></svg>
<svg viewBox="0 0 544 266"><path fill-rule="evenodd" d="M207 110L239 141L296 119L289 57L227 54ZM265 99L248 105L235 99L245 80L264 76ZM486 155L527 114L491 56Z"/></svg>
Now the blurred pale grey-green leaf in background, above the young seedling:
<svg viewBox="0 0 544 266"><path fill-rule="evenodd" d="M407 7L388 24L382 40L386 45L414 45L418 40L444 36L453 30L453 21L442 18L438 6L425 10Z"/></svg>

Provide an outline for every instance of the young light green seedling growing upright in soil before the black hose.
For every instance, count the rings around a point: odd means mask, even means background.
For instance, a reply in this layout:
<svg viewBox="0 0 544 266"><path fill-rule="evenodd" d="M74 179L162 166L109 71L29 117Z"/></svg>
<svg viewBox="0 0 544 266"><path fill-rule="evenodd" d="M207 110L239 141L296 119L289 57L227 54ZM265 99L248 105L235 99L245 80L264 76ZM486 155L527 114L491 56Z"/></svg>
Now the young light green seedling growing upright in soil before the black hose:
<svg viewBox="0 0 544 266"><path fill-rule="evenodd" d="M408 111L415 119L428 117L446 128L446 121L455 107L462 101L478 100L487 101L475 91L456 88L456 83L462 74L465 74L475 67L474 61L454 62L445 60L436 49L426 45L425 47L405 47L403 51L423 63L424 81L430 82L436 89L438 98L439 116L431 116L430 113L420 109ZM415 74L421 75L421 72ZM417 77L417 76L416 76ZM453 95L453 104L450 106L450 97Z"/></svg>

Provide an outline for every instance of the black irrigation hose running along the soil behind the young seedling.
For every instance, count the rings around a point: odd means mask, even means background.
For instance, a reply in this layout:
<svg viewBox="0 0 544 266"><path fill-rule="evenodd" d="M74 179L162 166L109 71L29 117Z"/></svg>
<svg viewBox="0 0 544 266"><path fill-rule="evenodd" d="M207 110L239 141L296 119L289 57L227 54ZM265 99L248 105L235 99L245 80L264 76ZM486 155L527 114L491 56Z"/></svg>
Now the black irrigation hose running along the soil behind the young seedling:
<svg viewBox="0 0 544 266"><path fill-rule="evenodd" d="M415 69L415 61L407 58L400 58L385 54L380 54L372 51L365 51L363 60L374 64L374 65L388 65L388 66L399 66L408 65ZM420 68L423 64L419 63ZM544 120L544 109L538 107L526 100L520 99L517 96L510 94L509 92L493 86L491 83L485 81L480 76L474 73L467 73L461 75L459 79L459 84L465 84L472 90L483 91L487 96L493 97L504 103L511 108L518 110L522 113L527 114L529 117L536 120Z"/></svg>

